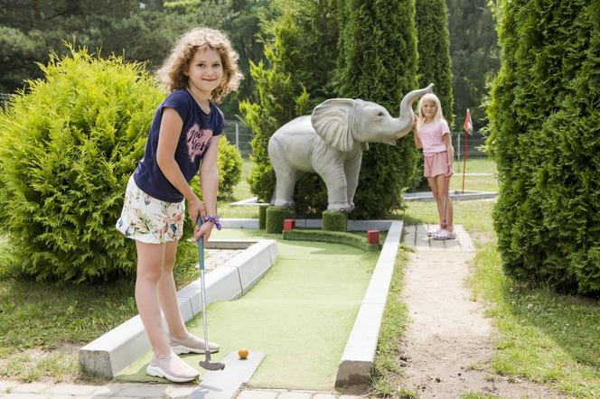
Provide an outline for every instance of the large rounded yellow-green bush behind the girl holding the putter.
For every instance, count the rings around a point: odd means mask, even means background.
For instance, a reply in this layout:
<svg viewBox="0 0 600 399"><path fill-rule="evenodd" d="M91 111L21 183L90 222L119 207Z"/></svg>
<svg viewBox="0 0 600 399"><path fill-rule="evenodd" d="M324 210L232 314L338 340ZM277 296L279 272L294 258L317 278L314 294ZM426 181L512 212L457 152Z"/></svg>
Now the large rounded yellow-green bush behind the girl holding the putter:
<svg viewBox="0 0 600 399"><path fill-rule="evenodd" d="M38 280L131 274L136 247L115 223L165 93L142 64L87 51L51 54L42 72L0 113L0 220L15 263ZM241 157L220 143L220 192L228 195Z"/></svg>

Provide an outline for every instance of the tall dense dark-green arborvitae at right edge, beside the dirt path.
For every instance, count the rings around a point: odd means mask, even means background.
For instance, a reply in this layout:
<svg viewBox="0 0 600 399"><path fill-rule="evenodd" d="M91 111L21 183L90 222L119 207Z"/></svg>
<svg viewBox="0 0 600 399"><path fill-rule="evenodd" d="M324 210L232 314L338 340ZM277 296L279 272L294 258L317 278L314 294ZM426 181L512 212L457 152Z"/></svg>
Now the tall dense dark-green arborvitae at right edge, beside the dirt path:
<svg viewBox="0 0 600 399"><path fill-rule="evenodd" d="M600 2L499 2L502 69L488 108L505 270L600 293ZM543 27L541 29L540 27Z"/></svg>

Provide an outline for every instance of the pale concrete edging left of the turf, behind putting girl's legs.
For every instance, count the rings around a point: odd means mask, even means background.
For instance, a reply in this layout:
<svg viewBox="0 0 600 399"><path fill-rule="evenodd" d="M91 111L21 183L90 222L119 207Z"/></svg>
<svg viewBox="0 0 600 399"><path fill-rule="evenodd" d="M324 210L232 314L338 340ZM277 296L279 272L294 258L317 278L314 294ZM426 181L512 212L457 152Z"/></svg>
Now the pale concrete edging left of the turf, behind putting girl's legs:
<svg viewBox="0 0 600 399"><path fill-rule="evenodd" d="M238 241L238 247L247 247L248 242L253 245L206 274L207 303L239 298L248 292L277 260L276 240ZM232 246L222 245L229 248ZM219 247L219 243L208 247ZM177 301L184 321L192 319L202 309L200 284L198 279L177 292ZM166 329L164 319L163 326ZM80 367L91 375L112 378L149 349L150 342L142 320L136 315L80 348Z"/></svg>

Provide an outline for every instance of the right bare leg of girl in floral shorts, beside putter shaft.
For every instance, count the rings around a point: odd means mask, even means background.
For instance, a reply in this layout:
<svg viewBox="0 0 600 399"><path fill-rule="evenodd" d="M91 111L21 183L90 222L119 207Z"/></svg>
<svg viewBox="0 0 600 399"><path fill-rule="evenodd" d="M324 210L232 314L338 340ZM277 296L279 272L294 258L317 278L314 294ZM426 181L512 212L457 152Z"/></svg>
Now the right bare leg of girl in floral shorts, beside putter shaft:
<svg viewBox="0 0 600 399"><path fill-rule="evenodd" d="M158 298L171 336L175 339L186 339L188 331L185 329L182 313L179 311L177 289L175 288L175 281L173 279L177 241L168 242L165 246L163 273L158 280Z"/></svg>

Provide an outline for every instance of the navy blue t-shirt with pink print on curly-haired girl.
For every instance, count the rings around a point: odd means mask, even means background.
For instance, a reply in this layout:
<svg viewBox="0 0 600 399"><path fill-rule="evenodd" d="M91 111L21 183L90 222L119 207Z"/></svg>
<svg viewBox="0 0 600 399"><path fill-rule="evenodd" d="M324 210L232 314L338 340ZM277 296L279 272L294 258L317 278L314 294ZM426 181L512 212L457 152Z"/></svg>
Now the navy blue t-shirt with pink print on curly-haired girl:
<svg viewBox="0 0 600 399"><path fill-rule="evenodd" d="M158 200L181 202L183 194L164 177L156 163L158 135L164 107L173 108L183 120L182 134L175 149L175 161L188 182L198 173L202 155L211 145L212 136L223 132L224 118L220 109L212 103L210 114L202 111L192 94L185 88L174 90L156 108L155 118L150 126L150 135L145 144L144 158L137 164L134 181L137 187Z"/></svg>

